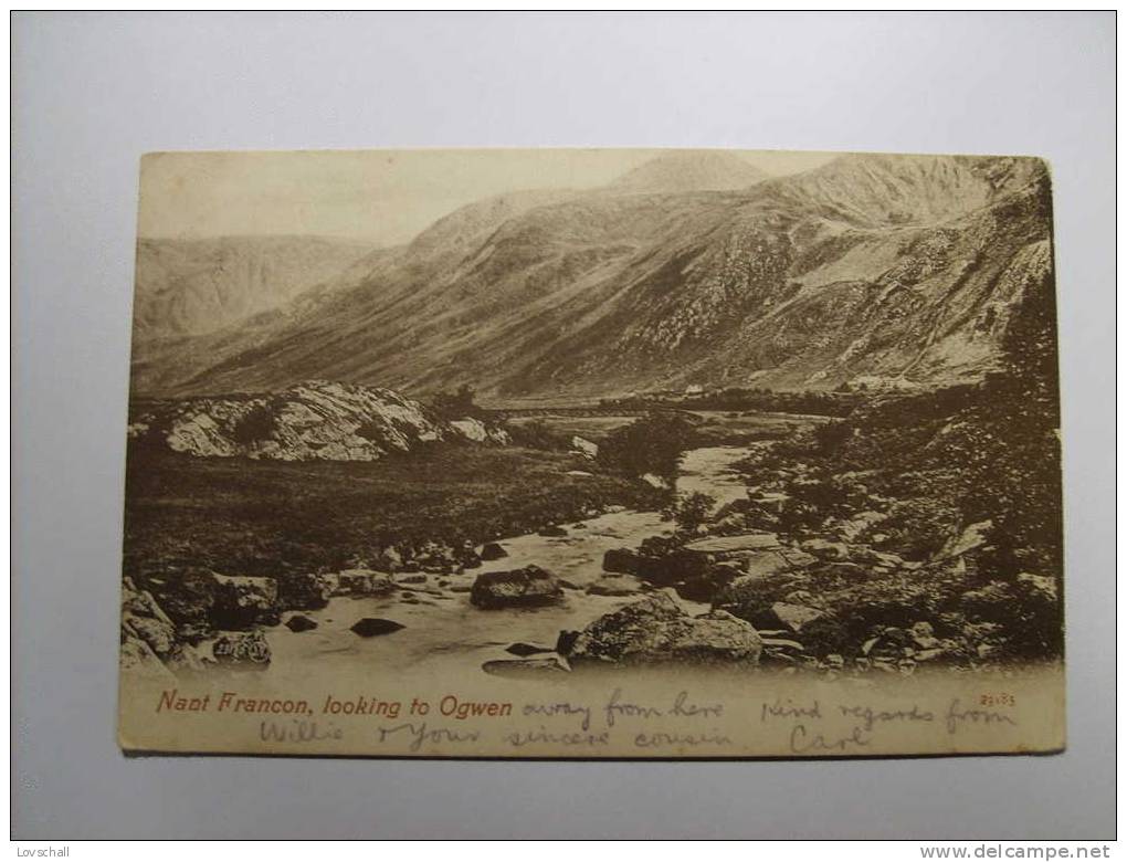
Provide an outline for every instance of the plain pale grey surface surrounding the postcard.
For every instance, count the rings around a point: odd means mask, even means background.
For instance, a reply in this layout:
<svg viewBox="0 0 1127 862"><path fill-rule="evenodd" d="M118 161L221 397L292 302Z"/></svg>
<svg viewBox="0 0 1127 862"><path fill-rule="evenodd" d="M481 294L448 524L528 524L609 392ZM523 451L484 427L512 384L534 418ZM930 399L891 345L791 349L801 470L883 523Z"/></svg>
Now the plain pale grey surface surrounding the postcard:
<svg viewBox="0 0 1127 862"><path fill-rule="evenodd" d="M15 835L1113 833L1112 14L17 14ZM1070 748L835 763L126 759L114 739L137 159L656 145L1053 165Z"/></svg>

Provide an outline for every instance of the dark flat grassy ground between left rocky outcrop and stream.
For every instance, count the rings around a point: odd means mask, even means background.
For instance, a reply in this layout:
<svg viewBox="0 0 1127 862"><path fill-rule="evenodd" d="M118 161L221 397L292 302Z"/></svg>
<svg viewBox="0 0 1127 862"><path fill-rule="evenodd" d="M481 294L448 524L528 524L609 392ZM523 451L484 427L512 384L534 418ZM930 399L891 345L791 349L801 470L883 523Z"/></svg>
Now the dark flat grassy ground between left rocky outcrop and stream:
<svg viewBox="0 0 1127 862"><path fill-rule="evenodd" d="M480 544L659 496L582 455L435 446L375 462L201 459L131 450L126 576L210 568L275 577L375 566L389 548Z"/></svg>

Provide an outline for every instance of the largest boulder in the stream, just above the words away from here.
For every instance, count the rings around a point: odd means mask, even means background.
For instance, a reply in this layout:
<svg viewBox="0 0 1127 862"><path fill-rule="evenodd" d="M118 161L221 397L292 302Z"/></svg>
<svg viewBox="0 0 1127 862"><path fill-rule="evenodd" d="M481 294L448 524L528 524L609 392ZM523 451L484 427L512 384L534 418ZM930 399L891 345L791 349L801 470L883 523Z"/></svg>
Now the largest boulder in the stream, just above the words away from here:
<svg viewBox="0 0 1127 862"><path fill-rule="evenodd" d="M568 660L621 665L758 663L755 629L724 611L690 616L664 593L598 617L577 636L560 638Z"/></svg>

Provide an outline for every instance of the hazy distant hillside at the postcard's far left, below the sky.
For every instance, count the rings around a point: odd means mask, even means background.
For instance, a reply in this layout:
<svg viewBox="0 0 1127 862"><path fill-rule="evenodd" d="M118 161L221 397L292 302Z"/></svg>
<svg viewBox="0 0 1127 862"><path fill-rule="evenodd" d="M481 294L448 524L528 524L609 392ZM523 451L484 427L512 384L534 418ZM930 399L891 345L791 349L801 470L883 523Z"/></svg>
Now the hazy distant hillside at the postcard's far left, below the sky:
<svg viewBox="0 0 1127 862"><path fill-rule="evenodd" d="M134 334L203 335L339 275L370 246L317 237L141 239Z"/></svg>

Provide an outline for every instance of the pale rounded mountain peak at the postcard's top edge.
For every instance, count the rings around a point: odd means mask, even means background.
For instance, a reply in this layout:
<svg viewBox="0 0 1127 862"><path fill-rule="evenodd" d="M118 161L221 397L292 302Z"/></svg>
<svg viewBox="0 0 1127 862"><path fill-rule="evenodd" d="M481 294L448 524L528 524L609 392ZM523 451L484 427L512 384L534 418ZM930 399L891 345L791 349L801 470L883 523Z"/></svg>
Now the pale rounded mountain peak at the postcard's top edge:
<svg viewBox="0 0 1127 862"><path fill-rule="evenodd" d="M616 192L729 192L754 186L765 171L720 150L671 150L623 174Z"/></svg>

